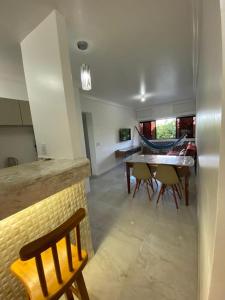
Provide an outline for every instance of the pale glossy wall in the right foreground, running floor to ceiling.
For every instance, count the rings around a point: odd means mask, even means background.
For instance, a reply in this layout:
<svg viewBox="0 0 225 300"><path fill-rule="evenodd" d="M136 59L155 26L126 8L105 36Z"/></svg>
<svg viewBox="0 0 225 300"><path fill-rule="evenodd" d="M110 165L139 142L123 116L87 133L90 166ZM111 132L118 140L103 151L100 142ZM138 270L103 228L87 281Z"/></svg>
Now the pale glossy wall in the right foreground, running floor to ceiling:
<svg viewBox="0 0 225 300"><path fill-rule="evenodd" d="M224 6L224 1L202 0L199 6L196 123L200 300L225 297L225 47L222 48L220 4ZM222 16L224 27L224 7Z"/></svg>

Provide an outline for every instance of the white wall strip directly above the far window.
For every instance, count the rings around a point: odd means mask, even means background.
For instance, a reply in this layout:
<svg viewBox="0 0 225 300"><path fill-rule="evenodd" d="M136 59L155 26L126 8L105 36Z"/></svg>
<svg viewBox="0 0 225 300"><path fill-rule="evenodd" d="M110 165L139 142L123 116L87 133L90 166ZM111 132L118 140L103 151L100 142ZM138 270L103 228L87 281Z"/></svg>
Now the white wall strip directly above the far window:
<svg viewBox="0 0 225 300"><path fill-rule="evenodd" d="M194 100L178 101L151 105L137 110L138 121L157 120L161 118L178 117L196 113Z"/></svg>

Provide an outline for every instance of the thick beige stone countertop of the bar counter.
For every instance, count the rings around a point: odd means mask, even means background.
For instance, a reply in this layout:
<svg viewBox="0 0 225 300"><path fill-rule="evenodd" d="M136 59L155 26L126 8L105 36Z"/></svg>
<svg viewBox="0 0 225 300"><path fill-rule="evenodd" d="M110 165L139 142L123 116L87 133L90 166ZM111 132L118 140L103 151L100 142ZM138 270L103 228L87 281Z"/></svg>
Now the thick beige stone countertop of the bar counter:
<svg viewBox="0 0 225 300"><path fill-rule="evenodd" d="M88 159L40 160L0 170L0 220L90 176Z"/></svg>

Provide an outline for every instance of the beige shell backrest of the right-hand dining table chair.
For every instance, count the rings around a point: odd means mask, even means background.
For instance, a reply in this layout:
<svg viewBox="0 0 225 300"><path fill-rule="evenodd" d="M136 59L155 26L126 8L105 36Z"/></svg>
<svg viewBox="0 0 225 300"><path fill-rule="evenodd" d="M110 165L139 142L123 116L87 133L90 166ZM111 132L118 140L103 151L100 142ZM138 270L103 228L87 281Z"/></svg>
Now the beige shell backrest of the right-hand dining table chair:
<svg viewBox="0 0 225 300"><path fill-rule="evenodd" d="M179 182L175 168L170 165L158 165L155 177L157 180L168 185Z"/></svg>

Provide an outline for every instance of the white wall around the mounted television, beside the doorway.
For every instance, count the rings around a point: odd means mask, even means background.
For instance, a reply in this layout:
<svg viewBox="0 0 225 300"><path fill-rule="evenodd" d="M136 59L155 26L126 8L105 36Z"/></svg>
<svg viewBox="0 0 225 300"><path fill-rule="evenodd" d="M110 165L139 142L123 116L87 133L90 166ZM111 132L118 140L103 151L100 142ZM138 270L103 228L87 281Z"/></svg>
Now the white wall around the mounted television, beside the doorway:
<svg viewBox="0 0 225 300"><path fill-rule="evenodd" d="M100 175L119 162L115 158L115 151L138 142L135 132L135 141L119 142L119 129L131 128L131 136L134 134L134 126L137 124L136 113L133 109L112 102L102 101L96 98L88 98L80 95L82 112L91 113L93 122L93 135L95 145L90 149L95 153L92 159L93 174ZM90 145L91 148L91 145Z"/></svg>

